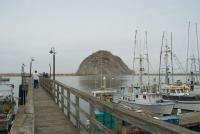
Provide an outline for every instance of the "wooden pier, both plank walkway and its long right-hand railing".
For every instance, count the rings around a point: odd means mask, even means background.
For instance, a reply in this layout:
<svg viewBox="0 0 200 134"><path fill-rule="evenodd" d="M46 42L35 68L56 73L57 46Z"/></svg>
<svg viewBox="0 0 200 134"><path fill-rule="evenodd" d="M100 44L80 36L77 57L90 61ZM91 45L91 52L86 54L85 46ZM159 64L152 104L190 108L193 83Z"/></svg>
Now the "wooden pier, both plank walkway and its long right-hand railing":
<svg viewBox="0 0 200 134"><path fill-rule="evenodd" d="M129 127L133 126L152 134L197 134L183 127L125 109L118 104L100 101L88 93L58 81L40 78L40 85L39 89L30 89L34 91L34 113L31 116L34 117L32 122L34 124L30 125L33 128L29 128L33 131L29 131L28 134L128 134ZM114 116L113 129L107 128L95 119L96 108L103 109Z"/></svg>

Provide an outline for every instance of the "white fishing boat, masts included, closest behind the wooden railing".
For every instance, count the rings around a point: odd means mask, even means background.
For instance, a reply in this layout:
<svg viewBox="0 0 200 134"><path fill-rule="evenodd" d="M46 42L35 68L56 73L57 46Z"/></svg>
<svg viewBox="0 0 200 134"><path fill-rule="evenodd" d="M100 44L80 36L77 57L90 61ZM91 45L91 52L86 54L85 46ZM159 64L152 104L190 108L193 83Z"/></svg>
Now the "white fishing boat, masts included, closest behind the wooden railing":
<svg viewBox="0 0 200 134"><path fill-rule="evenodd" d="M137 30L135 32L135 46L136 48L136 36ZM147 33L146 33L146 40L147 40ZM147 45L147 41L146 41ZM148 53L148 51L147 51ZM146 54L148 56L148 54ZM132 90L132 93L129 95L124 95L120 98L122 104L127 105L133 109L140 108L147 112L157 113L157 114L171 114L172 109L174 107L174 103L163 103L162 95L159 93L151 92L152 86L143 83L143 74L144 74L144 67L143 67L143 60L145 59L142 54L139 57L135 57L135 49L134 49L134 58L133 58L133 69L134 69L134 61L139 60L139 84L133 86L129 86L128 88ZM146 58L147 62L148 57ZM149 73L149 72L148 72ZM121 90L125 90L126 87L121 87Z"/></svg>

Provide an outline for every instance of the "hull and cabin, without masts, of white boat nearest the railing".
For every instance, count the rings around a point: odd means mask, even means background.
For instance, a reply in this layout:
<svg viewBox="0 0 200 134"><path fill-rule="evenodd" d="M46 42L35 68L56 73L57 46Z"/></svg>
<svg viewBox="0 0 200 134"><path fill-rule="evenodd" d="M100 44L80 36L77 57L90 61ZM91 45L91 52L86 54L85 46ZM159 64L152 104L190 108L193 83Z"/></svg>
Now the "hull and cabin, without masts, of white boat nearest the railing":
<svg viewBox="0 0 200 134"><path fill-rule="evenodd" d="M130 87L129 87L130 88ZM121 87L124 90L125 87ZM133 90L140 90L139 86L133 87ZM157 114L171 114L174 103L163 102L162 95L159 93L135 92L131 95L123 95L120 98L122 104L132 109L142 109L147 112Z"/></svg>

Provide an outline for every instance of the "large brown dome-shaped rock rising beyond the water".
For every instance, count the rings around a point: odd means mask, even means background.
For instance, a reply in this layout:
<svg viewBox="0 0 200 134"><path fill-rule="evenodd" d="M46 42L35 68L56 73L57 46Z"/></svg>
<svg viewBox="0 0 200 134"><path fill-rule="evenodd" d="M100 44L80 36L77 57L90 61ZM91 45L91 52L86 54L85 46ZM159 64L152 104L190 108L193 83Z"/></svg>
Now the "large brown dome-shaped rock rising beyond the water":
<svg viewBox="0 0 200 134"><path fill-rule="evenodd" d="M131 74L131 70L120 57L100 50L85 58L77 71L78 75L101 73L108 75Z"/></svg>

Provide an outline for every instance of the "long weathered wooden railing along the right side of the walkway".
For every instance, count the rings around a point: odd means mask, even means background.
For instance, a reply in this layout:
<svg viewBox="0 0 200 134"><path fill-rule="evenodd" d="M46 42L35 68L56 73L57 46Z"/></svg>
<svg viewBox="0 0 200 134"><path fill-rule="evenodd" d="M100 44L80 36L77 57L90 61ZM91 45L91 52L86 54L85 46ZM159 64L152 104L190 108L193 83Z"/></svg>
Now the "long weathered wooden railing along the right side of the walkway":
<svg viewBox="0 0 200 134"><path fill-rule="evenodd" d="M71 121L75 120L74 125L77 128L83 128L88 133L98 133L94 129L94 126L98 126L101 128L101 132L105 134L122 134L125 128L123 122L126 122L126 124L130 124L130 126L140 127L153 134L196 134L196 132L180 126L124 109L119 104L100 101L88 93L67 86L59 81L41 77L40 84L52 96L52 99L58 104L66 117ZM74 101L72 99L74 99ZM89 113L86 109L81 107L81 101L89 105ZM96 108L101 108L115 117L114 129L109 129L95 120L94 111ZM75 112L72 112L71 109L75 109ZM84 115L89 120L89 126L86 125L86 122L80 120L80 114Z"/></svg>

